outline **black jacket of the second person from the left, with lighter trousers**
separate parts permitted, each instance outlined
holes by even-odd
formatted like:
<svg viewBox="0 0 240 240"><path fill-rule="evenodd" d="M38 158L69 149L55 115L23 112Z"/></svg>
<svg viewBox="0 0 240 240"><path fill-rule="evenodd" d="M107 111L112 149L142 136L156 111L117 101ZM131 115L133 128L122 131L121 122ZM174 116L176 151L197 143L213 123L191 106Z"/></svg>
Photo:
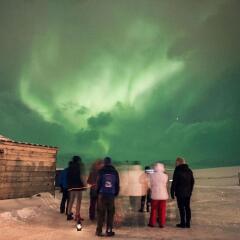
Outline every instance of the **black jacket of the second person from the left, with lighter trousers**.
<svg viewBox="0 0 240 240"><path fill-rule="evenodd" d="M84 171L83 164L73 163L67 172L68 189L83 190L84 181L82 172Z"/></svg>

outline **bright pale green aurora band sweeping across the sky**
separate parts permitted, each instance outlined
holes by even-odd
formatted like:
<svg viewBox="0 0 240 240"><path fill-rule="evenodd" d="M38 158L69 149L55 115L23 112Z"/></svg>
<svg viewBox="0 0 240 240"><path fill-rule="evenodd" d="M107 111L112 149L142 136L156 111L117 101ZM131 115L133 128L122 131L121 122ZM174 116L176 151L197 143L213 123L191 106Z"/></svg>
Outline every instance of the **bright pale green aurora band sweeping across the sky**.
<svg viewBox="0 0 240 240"><path fill-rule="evenodd" d="M150 34L150 40L152 37L154 34ZM164 53L147 66L138 54L127 63L119 61L114 54L106 54L96 56L87 70L59 74L55 72L61 63L58 41L56 37L49 39L33 47L30 63L20 80L21 98L45 120L63 124L72 131L86 128L90 116L112 111L117 103L141 110L149 97L147 93L183 68L182 62L169 60ZM120 73L116 71L119 68ZM46 95L36 94L38 90L46 91ZM86 112L77 114L82 108Z"/></svg>

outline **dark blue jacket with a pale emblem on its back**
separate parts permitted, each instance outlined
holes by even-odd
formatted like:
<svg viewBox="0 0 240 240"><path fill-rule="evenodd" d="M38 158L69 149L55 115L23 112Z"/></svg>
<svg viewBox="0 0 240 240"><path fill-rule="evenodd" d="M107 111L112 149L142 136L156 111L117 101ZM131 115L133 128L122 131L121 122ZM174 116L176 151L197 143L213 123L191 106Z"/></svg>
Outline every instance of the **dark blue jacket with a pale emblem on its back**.
<svg viewBox="0 0 240 240"><path fill-rule="evenodd" d="M112 176L114 185L109 187L105 186L106 182L105 177ZM119 175L117 170L112 165L105 165L98 173L97 178L97 193L104 195L104 196L110 196L114 197L119 194L120 186L119 186Z"/></svg>

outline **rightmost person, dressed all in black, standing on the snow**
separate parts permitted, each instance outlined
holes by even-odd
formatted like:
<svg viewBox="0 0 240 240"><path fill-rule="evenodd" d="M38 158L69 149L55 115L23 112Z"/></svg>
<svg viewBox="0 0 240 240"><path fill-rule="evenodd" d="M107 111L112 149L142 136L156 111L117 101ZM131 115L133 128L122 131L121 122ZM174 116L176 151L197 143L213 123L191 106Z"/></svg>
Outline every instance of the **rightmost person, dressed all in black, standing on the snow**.
<svg viewBox="0 0 240 240"><path fill-rule="evenodd" d="M188 167L183 158L176 159L176 168L173 173L173 182L171 186L171 197L177 197L177 203L181 222L177 224L180 228L190 228L191 208L190 200L194 186L194 177L192 170Z"/></svg>

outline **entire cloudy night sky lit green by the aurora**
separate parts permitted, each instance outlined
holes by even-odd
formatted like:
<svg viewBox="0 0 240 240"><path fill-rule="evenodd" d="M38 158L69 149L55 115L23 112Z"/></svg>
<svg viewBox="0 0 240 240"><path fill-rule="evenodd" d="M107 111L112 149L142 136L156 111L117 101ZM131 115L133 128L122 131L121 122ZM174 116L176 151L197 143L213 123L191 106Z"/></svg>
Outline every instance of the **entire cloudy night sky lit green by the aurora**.
<svg viewBox="0 0 240 240"><path fill-rule="evenodd" d="M0 0L0 134L85 161L240 164L240 1Z"/></svg>

